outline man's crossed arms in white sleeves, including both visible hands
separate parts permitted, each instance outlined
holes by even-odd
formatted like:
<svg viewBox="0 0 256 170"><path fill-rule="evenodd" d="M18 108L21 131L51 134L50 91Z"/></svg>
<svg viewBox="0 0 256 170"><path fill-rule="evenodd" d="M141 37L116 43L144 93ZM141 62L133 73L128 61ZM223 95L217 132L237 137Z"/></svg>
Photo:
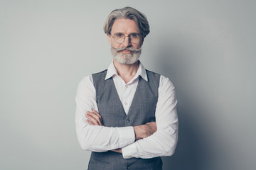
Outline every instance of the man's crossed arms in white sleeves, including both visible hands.
<svg viewBox="0 0 256 170"><path fill-rule="evenodd" d="M174 86L169 79L162 76L160 79L156 123L123 128L103 126L100 115L97 115L95 88L91 76L80 81L76 103L76 131L82 149L122 152L124 158L151 158L174 154L178 140L177 101Z"/></svg>

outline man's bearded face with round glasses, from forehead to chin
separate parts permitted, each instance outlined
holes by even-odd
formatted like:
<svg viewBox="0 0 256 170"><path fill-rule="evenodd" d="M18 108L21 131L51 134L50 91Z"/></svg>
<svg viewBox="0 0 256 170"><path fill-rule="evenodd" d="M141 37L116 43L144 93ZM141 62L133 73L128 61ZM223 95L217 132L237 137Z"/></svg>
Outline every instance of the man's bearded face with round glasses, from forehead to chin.
<svg viewBox="0 0 256 170"><path fill-rule="evenodd" d="M111 35L107 35L107 40L111 45L111 52L114 60L121 64L134 64L139 60L141 54L142 38L140 37L137 23L130 19L119 18L114 21ZM122 43L114 41L113 36L124 35L125 39ZM132 42L132 37L139 35L138 42ZM130 37L129 37L130 36Z"/></svg>

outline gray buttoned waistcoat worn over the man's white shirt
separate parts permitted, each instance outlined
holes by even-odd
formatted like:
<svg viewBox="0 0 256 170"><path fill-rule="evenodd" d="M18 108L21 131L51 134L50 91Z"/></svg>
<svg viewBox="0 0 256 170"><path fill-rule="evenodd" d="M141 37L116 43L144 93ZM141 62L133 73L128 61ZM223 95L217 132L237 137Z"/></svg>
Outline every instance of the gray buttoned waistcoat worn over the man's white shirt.
<svg viewBox="0 0 256 170"><path fill-rule="evenodd" d="M160 79L159 74L146 70L148 81L139 77L139 83L128 114L124 112L112 77L105 80L106 74L107 70L92 74L96 89L97 106L102 116L103 125L106 127L124 127L142 125L155 121ZM160 157L153 159L124 159L122 154L117 152L92 152L88 169L161 170L162 162Z"/></svg>

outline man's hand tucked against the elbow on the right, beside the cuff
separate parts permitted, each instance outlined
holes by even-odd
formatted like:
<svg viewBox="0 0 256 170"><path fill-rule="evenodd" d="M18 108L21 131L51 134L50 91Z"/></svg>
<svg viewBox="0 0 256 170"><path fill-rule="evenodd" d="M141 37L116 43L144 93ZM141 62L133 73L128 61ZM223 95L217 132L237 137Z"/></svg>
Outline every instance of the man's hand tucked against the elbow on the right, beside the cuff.
<svg viewBox="0 0 256 170"><path fill-rule="evenodd" d="M134 126L133 128L135 132L135 140L140 140L145 137L149 137L157 130L155 122L149 122L145 125Z"/></svg>

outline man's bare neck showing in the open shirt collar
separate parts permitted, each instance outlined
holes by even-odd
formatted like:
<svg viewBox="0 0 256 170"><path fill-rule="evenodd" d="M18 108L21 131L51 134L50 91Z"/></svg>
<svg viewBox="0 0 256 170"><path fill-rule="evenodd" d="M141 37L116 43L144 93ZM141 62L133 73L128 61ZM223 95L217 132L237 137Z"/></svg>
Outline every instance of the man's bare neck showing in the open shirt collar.
<svg viewBox="0 0 256 170"><path fill-rule="evenodd" d="M114 62L114 67L117 69L117 74L121 77L127 84L137 73L139 69L139 61L134 64L120 64L116 60Z"/></svg>

